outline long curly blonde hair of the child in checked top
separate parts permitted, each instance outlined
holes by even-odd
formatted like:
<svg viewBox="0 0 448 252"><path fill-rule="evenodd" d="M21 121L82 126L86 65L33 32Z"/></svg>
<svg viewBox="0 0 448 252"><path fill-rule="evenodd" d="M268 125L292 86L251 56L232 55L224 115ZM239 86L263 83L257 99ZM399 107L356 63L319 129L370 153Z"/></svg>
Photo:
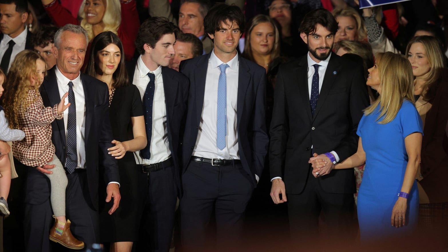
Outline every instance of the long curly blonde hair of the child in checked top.
<svg viewBox="0 0 448 252"><path fill-rule="evenodd" d="M24 50L14 58L5 81L4 87L4 115L9 122L9 128L20 128L18 115L37 100L37 96L31 103L26 102L28 90L38 90L39 86L31 86L30 77L35 83L39 82L36 75L36 60L43 60L42 56L30 50Z"/></svg>

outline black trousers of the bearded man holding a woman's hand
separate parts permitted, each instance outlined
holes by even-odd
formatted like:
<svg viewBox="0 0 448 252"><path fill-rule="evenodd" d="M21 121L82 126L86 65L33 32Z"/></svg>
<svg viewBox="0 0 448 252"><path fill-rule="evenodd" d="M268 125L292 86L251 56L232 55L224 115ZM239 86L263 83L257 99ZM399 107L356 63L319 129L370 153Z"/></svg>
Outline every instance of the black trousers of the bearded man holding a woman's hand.
<svg viewBox="0 0 448 252"><path fill-rule="evenodd" d="M293 240L315 242L319 237L319 226L333 232L327 238L336 236L354 238L353 193L338 194L323 191L320 178L314 178L310 168L305 189L300 194L287 194L289 227ZM344 183L344 181L341 181ZM319 225L323 213L324 223ZM310 239L310 240L309 240Z"/></svg>

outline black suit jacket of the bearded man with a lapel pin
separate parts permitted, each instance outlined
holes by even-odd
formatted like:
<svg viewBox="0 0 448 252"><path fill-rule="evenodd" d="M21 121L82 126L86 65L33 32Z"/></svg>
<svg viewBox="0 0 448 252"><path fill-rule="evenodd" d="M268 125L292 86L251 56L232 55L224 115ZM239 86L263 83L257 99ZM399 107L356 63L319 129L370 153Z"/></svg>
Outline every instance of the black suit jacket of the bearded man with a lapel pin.
<svg viewBox="0 0 448 252"><path fill-rule="evenodd" d="M286 193L303 191L312 151L334 150L340 161L358 149L356 130L369 106L364 69L332 53L314 116L311 114L306 56L280 66L271 122L271 178L282 177ZM353 169L333 170L319 179L329 193L354 193Z"/></svg>

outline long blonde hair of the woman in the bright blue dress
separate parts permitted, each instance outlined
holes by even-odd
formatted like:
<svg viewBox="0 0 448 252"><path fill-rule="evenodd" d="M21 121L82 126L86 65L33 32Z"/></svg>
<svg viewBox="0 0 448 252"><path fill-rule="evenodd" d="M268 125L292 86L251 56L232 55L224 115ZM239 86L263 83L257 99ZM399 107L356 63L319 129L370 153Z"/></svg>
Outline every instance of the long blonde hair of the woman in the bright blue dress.
<svg viewBox="0 0 448 252"><path fill-rule="evenodd" d="M412 67L405 57L393 52L380 52L375 55L379 74L381 94L379 98L364 110L365 115L373 114L377 109L379 124L394 120L403 104L403 99L414 104L414 76Z"/></svg>

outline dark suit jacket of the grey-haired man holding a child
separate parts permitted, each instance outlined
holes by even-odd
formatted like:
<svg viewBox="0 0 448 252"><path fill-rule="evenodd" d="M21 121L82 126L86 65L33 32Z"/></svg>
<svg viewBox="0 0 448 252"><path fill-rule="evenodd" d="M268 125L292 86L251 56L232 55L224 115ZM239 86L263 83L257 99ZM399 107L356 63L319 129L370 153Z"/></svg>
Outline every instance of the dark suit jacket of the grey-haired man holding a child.
<svg viewBox="0 0 448 252"><path fill-rule="evenodd" d="M39 88L45 107L60 102L56 80L56 66L48 71ZM81 74L82 87L86 103L84 147L86 149L86 171L90 198L95 209L98 209L99 171L103 171L106 184L120 182L118 164L108 154L107 149L114 146L111 141L112 128L109 120L109 92L107 85L89 75ZM67 158L64 119L52 122L52 142L56 147L56 156L62 164Z"/></svg>

